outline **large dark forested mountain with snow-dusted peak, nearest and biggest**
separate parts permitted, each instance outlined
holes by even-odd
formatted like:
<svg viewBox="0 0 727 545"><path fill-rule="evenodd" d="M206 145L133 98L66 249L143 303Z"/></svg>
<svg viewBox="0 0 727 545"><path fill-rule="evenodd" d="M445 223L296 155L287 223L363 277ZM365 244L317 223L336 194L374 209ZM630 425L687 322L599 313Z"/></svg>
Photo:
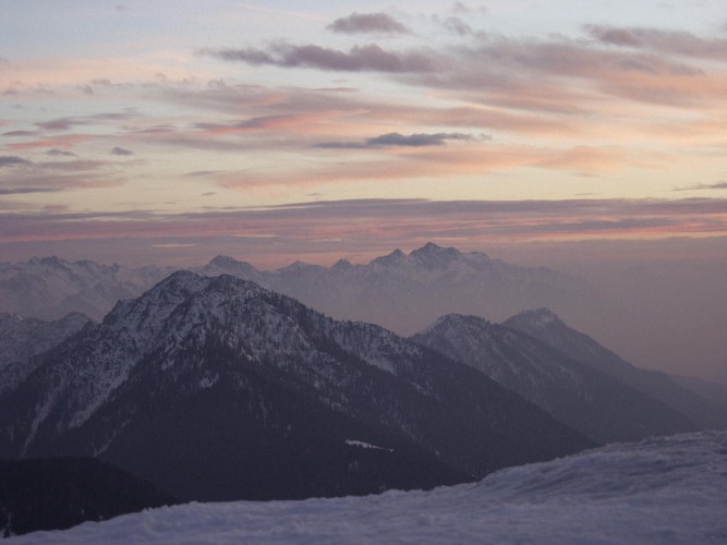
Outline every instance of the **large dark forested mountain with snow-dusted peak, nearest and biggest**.
<svg viewBox="0 0 727 545"><path fill-rule="evenodd" d="M180 499L432 487L593 443L471 367L180 271L0 398L0 456L97 456Z"/></svg>

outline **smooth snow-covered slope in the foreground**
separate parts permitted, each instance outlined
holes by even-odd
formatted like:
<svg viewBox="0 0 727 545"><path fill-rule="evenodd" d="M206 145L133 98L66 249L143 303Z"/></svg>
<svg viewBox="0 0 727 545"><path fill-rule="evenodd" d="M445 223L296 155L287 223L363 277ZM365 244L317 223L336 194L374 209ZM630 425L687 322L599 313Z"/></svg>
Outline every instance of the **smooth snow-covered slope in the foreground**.
<svg viewBox="0 0 727 545"><path fill-rule="evenodd" d="M9 543L727 543L727 432L607 447L432 492L189 504Z"/></svg>

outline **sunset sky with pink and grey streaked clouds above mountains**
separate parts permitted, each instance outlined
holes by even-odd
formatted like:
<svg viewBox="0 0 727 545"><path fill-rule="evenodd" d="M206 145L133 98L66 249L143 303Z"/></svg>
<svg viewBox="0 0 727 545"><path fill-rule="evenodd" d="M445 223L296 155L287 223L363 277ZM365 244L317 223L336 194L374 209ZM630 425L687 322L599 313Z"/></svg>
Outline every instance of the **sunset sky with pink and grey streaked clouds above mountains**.
<svg viewBox="0 0 727 545"><path fill-rule="evenodd" d="M662 303L668 269L699 314L727 291L725 97L723 0L0 0L0 261L433 241Z"/></svg>

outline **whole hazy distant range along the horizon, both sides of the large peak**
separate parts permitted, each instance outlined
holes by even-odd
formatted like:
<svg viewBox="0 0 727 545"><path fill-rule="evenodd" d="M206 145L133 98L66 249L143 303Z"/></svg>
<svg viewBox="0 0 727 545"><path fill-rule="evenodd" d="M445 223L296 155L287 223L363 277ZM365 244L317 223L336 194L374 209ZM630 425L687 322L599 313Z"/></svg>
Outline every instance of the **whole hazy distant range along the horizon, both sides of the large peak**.
<svg viewBox="0 0 727 545"><path fill-rule="evenodd" d="M408 255L397 250L365 265L341 259L327 268L296 262L260 271L218 256L192 270L252 280L335 318L378 324L399 335L414 334L448 313L501 320L525 308L568 313L603 303L582 279L433 243ZM0 264L0 312L44 319L81 312L101 319L117 301L138 296L172 271L57 257Z"/></svg>

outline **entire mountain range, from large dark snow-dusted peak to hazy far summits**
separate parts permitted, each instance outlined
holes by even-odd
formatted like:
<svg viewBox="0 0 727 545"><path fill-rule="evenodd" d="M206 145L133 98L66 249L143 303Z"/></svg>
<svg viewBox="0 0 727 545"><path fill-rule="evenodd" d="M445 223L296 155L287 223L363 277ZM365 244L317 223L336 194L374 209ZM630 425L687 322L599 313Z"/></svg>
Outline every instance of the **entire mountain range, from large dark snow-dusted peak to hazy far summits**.
<svg viewBox="0 0 727 545"><path fill-rule="evenodd" d="M543 302L597 296L435 244L276 271L230 257L195 271L0 265L0 308L47 316L0 314L0 458L100 458L181 500L281 499L431 488L725 427L688 379L629 364L548 308L519 312ZM93 319L57 316L81 308Z"/></svg>

